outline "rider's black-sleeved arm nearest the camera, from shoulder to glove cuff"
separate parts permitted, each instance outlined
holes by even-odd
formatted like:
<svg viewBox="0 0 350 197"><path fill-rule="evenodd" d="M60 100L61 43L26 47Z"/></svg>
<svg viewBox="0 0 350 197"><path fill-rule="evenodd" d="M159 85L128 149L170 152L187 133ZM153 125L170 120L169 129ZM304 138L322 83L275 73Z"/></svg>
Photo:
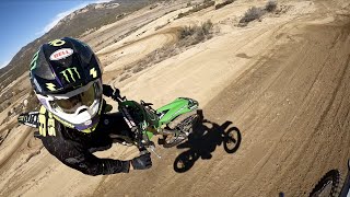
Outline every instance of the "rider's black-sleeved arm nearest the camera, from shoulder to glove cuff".
<svg viewBox="0 0 350 197"><path fill-rule="evenodd" d="M84 174L95 176L129 172L130 161L100 159L79 143L62 138L46 137L42 140L45 148L58 160Z"/></svg>

